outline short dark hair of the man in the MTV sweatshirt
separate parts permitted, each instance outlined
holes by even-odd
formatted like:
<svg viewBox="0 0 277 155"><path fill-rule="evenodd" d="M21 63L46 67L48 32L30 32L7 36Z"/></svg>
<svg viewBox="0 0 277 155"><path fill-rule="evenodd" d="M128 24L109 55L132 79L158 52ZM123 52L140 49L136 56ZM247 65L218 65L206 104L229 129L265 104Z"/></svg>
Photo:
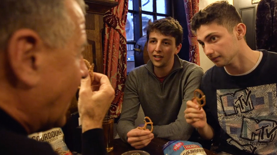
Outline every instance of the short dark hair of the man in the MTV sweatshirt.
<svg viewBox="0 0 277 155"><path fill-rule="evenodd" d="M192 17L191 30L196 32L201 25L212 23L222 25L232 33L233 28L242 23L242 19L234 6L227 1L218 1L200 10Z"/></svg>

